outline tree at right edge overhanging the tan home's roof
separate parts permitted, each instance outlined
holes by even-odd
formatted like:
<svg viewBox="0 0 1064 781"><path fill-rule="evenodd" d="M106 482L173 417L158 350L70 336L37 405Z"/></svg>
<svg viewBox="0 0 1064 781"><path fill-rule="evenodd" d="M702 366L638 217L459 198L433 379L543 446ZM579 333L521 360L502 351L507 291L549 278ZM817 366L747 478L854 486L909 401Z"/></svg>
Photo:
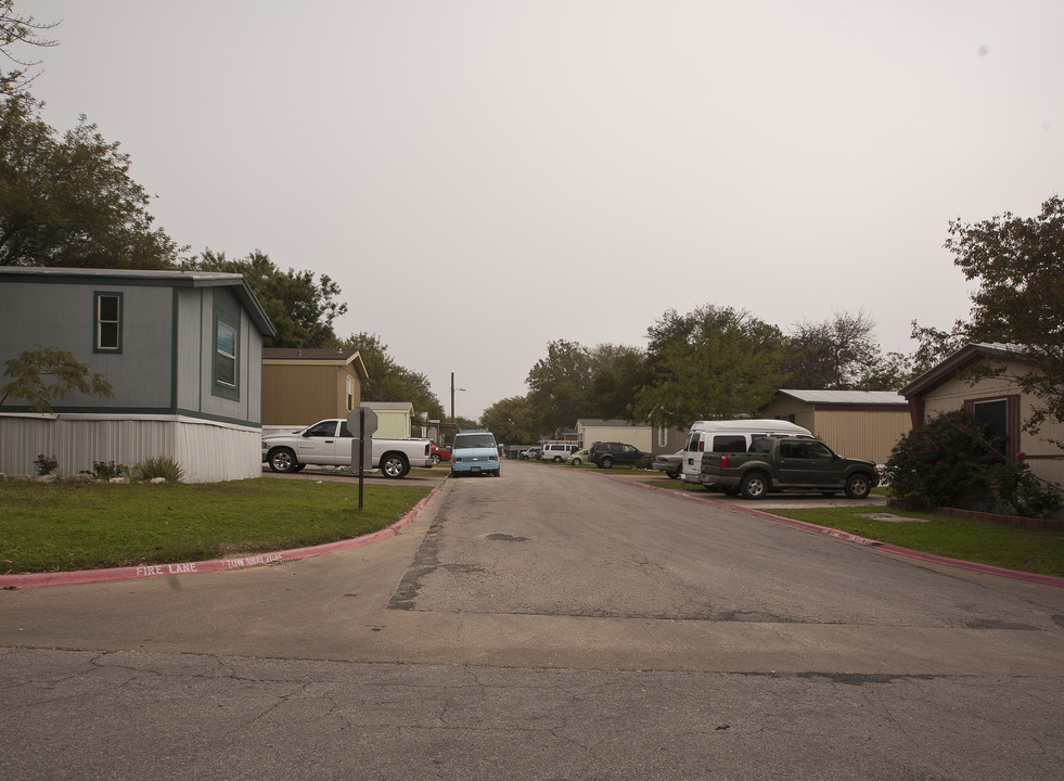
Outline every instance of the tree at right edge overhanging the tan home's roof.
<svg viewBox="0 0 1064 781"><path fill-rule="evenodd" d="M1025 421L1029 431L1047 419L1064 421L1064 201L1050 197L1034 218L1007 212L974 223L954 220L949 233L953 263L978 282L969 340L1014 345L1037 366L1009 374L1037 399Z"/></svg>

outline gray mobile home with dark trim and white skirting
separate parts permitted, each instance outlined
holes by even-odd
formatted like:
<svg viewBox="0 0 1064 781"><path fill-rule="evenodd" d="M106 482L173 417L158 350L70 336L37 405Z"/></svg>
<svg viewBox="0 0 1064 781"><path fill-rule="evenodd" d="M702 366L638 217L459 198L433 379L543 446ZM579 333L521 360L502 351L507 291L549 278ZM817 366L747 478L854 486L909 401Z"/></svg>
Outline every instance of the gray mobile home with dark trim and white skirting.
<svg viewBox="0 0 1064 781"><path fill-rule="evenodd" d="M180 461L189 482L260 474L262 340L273 333L240 274L0 268L0 364L59 347L115 394L63 399L51 414L8 399L0 472L31 473L44 453L67 475L153 456Z"/></svg>

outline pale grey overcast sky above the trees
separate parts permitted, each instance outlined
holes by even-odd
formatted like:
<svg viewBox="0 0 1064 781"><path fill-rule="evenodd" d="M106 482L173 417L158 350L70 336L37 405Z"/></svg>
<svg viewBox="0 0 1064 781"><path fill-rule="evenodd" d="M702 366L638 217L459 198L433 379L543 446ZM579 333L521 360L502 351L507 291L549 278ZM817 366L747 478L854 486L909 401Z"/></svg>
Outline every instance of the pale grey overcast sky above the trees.
<svg viewBox="0 0 1064 781"><path fill-rule="evenodd" d="M1061 0L16 0L192 252L325 273L459 415L675 308L948 329L1064 182Z"/></svg>

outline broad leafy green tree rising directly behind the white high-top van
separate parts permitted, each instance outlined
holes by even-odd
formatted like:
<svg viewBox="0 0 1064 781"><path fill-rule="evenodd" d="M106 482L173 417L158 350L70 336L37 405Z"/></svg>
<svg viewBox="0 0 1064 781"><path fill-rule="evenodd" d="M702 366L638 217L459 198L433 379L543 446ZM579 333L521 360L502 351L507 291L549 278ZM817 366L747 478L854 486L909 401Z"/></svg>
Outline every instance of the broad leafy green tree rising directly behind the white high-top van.
<svg viewBox="0 0 1064 781"><path fill-rule="evenodd" d="M639 394L639 420L682 427L698 419L753 414L779 387L783 333L744 310L670 309L648 335L652 384Z"/></svg>

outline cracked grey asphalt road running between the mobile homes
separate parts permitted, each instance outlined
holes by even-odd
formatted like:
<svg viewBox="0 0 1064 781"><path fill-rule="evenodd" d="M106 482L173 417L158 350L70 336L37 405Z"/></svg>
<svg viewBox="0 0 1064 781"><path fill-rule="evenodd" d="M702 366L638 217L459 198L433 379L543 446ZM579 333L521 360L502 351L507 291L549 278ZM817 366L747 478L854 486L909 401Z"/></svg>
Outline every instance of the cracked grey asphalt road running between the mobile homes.
<svg viewBox="0 0 1064 781"><path fill-rule="evenodd" d="M1064 589L508 461L364 548L2 592L0 687L12 779L1055 780Z"/></svg>

